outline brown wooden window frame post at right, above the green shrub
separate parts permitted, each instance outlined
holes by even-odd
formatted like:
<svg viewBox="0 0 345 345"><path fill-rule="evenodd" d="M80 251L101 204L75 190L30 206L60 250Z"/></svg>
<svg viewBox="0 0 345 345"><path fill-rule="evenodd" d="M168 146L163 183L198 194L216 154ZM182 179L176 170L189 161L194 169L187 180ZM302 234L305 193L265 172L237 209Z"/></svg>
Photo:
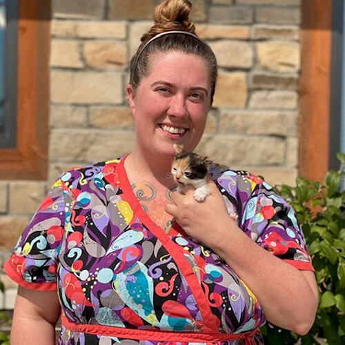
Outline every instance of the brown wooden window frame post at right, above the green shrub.
<svg viewBox="0 0 345 345"><path fill-rule="evenodd" d="M320 182L329 167L332 3L301 3L299 175Z"/></svg>

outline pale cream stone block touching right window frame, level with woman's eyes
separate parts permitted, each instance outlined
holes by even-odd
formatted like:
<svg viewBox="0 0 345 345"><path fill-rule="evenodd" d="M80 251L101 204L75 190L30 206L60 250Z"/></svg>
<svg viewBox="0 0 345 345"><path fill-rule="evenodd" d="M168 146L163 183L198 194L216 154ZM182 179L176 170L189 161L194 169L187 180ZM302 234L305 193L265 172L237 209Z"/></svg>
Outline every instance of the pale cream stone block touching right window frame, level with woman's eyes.
<svg viewBox="0 0 345 345"><path fill-rule="evenodd" d="M249 108L259 109L296 109L295 91L254 91L250 96Z"/></svg>

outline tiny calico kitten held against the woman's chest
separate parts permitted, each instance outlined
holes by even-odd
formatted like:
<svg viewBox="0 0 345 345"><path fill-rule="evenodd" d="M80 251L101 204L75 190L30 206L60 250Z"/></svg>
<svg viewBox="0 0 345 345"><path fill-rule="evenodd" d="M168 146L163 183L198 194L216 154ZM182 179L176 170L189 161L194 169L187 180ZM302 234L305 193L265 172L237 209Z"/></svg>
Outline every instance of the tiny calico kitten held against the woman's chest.
<svg viewBox="0 0 345 345"><path fill-rule="evenodd" d="M201 202L210 194L207 184L208 168L212 163L207 157L202 157L195 152L187 152L177 144L172 162L171 173L177 184L179 193L186 193L190 186L195 188L194 199Z"/></svg>

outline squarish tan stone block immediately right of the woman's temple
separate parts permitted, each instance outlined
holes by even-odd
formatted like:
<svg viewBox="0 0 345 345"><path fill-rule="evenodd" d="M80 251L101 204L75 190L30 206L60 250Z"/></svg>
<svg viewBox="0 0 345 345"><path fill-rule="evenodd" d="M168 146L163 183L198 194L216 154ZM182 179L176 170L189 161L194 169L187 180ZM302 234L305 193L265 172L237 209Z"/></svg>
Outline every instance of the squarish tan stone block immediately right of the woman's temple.
<svg viewBox="0 0 345 345"><path fill-rule="evenodd" d="M219 72L213 106L244 108L248 97L246 73Z"/></svg>

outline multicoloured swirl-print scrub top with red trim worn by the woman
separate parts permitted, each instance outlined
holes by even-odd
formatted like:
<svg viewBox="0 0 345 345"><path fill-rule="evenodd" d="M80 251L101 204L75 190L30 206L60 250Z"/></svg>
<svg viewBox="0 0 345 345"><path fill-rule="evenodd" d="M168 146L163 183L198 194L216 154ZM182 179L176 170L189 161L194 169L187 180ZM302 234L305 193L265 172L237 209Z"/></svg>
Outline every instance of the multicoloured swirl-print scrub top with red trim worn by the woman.
<svg viewBox="0 0 345 345"><path fill-rule="evenodd" d="M59 344L263 344L257 298L219 255L176 224L168 233L132 193L124 159L75 168L52 186L6 262L57 290ZM214 165L238 226L273 255L313 270L295 213L262 179Z"/></svg>

